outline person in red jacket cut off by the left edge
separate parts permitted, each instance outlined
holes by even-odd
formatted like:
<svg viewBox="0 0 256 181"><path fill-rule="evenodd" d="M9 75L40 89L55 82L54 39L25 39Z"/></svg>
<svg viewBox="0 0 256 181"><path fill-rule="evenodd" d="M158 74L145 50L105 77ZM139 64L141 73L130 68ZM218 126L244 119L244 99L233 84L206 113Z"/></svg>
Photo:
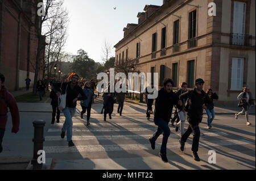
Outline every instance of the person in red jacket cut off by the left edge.
<svg viewBox="0 0 256 181"><path fill-rule="evenodd" d="M9 107L11 112L11 117L13 119L13 129L12 133L18 133L19 131L19 110L16 104L16 100L13 95L4 86L5 76L0 73L0 153L3 151L2 141L3 135L5 134L5 127L7 123L7 112Z"/></svg>

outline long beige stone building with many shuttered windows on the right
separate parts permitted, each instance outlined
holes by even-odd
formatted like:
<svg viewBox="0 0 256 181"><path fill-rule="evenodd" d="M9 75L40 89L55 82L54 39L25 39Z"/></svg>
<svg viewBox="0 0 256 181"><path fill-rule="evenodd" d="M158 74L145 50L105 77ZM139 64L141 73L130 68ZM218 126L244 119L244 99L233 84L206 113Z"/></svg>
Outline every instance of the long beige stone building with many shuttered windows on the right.
<svg viewBox="0 0 256 181"><path fill-rule="evenodd" d="M133 61L141 72L158 73L160 87L172 78L174 89L180 82L193 89L203 78L224 106L237 103L245 85L255 95L255 1L164 0L137 17L114 46L117 69Z"/></svg>

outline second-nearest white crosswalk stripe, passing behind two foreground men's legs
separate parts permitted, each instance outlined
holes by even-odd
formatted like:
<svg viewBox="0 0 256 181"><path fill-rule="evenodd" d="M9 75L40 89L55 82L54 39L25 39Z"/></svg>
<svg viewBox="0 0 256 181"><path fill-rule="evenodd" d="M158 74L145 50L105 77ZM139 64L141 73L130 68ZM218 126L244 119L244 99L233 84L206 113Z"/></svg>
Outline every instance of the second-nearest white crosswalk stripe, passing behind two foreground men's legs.
<svg viewBox="0 0 256 181"><path fill-rule="evenodd" d="M204 133L204 136L226 136L228 134L223 132L216 132L216 133ZM96 136L72 136L73 141L89 141L89 140L139 140L139 139L145 139L148 137L152 137L152 134L129 134L129 135L96 135ZM162 138L163 136L160 135L159 138ZM169 137L172 138L180 138L179 134L170 134ZM193 137L191 134L190 137ZM65 139L60 138L60 136L46 136L46 141L65 141Z"/></svg>

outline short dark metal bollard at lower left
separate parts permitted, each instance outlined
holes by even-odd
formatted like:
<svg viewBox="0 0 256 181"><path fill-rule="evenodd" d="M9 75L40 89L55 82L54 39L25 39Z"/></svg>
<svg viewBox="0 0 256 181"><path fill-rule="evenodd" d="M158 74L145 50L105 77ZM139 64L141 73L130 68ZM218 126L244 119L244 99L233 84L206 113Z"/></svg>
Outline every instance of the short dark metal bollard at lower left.
<svg viewBox="0 0 256 181"><path fill-rule="evenodd" d="M38 163L38 150L43 150L43 142L44 142L44 125L46 124L46 121L44 120L35 120L33 122L34 129L34 155L33 159L31 161L31 164L33 165L33 170L39 170L42 169L43 163Z"/></svg>

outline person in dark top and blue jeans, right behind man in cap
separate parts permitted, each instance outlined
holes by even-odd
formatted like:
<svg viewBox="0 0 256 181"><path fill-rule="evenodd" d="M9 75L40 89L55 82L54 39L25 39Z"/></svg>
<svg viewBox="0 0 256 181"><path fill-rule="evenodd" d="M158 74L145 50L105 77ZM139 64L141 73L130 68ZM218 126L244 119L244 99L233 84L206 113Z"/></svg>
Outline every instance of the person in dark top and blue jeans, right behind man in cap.
<svg viewBox="0 0 256 181"><path fill-rule="evenodd" d="M208 116L207 129L210 129L210 128L212 128L212 121L215 117L213 99L218 99L218 95L215 92L213 92L212 89L207 89L206 93L210 98L208 104L205 105L207 107L207 110L205 110L205 111L207 112L207 116Z"/></svg>

